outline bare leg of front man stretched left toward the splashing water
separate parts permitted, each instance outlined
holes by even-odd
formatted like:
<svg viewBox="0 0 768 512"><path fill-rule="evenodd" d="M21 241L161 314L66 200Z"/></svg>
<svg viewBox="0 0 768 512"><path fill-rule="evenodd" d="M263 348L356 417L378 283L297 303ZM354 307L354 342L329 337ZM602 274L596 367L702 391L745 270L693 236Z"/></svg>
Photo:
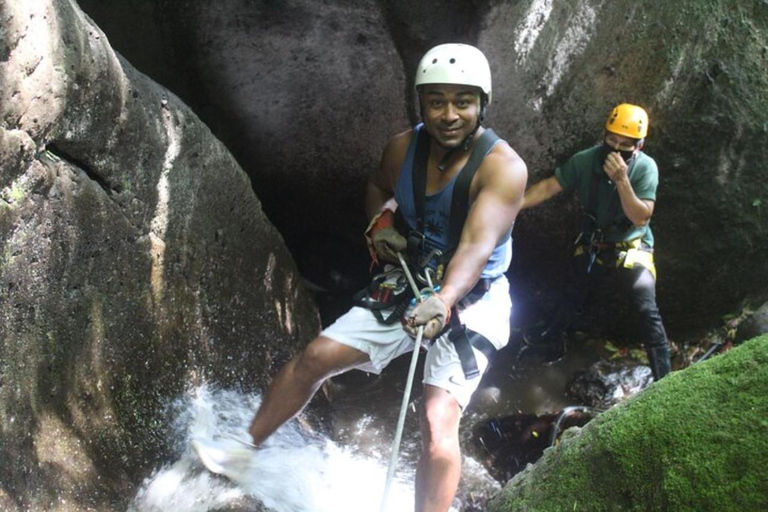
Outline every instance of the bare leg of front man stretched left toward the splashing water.
<svg viewBox="0 0 768 512"><path fill-rule="evenodd" d="M256 446L296 416L325 379L368 361L368 354L330 338L315 338L275 376L249 432Z"/></svg>

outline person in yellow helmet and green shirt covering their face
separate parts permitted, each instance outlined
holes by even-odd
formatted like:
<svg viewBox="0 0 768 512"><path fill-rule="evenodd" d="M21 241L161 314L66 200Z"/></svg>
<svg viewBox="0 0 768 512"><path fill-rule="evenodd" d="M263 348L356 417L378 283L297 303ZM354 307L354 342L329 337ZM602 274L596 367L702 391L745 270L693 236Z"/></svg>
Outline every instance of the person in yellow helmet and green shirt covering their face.
<svg viewBox="0 0 768 512"><path fill-rule="evenodd" d="M596 276L608 275L631 299L655 380L670 371L669 342L656 305L656 268L650 220L659 171L643 153L645 110L627 103L611 111L603 144L573 155L555 175L525 193L523 209L575 191L584 211L574 253L575 282L538 342L552 340L574 320Z"/></svg>

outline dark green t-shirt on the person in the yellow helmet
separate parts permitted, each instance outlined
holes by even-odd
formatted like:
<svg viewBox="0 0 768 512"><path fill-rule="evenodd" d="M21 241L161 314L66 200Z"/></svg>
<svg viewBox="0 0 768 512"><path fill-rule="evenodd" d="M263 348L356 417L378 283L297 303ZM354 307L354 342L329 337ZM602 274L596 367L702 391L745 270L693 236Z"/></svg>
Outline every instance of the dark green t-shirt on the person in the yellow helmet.
<svg viewBox="0 0 768 512"><path fill-rule="evenodd" d="M562 167L555 169L555 178L563 191L576 191L582 207L589 209L592 190L592 176L599 178L597 200L593 203L597 226L605 233L606 242L628 242L642 238L643 242L653 247L653 233L650 224L642 227L632 225L621 209L616 185L603 171L601 146L595 146L573 155ZM639 199L656 201L656 188L659 186L659 169L650 156L640 151L629 173L629 182ZM615 213L611 218L611 213Z"/></svg>

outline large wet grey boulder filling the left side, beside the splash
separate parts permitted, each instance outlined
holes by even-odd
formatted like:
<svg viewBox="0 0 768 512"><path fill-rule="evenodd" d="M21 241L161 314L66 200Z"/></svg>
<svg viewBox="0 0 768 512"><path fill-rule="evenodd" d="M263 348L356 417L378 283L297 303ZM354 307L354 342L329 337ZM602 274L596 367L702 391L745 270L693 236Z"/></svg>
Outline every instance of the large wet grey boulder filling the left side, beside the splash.
<svg viewBox="0 0 768 512"><path fill-rule="evenodd" d="M255 388L317 333L224 146L71 2L0 7L0 503L116 510L168 399Z"/></svg>

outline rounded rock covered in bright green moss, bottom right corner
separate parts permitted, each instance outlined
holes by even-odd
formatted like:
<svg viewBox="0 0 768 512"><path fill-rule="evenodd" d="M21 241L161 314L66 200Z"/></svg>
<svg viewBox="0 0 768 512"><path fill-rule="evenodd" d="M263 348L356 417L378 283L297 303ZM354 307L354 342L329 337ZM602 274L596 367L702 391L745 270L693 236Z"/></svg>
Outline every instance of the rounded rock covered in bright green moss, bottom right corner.
<svg viewBox="0 0 768 512"><path fill-rule="evenodd" d="M488 510L768 510L767 388L763 336L568 431Z"/></svg>

